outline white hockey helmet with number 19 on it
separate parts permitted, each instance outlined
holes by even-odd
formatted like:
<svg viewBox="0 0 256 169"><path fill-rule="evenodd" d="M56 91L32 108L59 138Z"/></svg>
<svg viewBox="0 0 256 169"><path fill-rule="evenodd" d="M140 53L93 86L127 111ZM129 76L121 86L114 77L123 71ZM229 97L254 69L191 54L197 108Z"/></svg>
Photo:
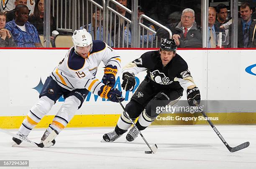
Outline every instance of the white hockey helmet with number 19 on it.
<svg viewBox="0 0 256 169"><path fill-rule="evenodd" d="M92 36L86 29L75 30L72 36L74 48L77 46L84 47L91 45L92 50Z"/></svg>

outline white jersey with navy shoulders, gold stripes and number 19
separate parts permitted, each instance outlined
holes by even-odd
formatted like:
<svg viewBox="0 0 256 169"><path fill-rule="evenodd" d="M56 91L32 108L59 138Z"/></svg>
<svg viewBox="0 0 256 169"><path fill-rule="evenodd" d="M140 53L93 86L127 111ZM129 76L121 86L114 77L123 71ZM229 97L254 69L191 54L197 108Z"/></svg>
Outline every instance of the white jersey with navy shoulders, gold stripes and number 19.
<svg viewBox="0 0 256 169"><path fill-rule="evenodd" d="M104 86L104 83L95 77L101 61L105 66L116 66L117 71L120 69L121 60L116 51L101 40L93 40L92 51L86 59L79 56L72 47L50 76L59 86L69 91L86 88L98 95L100 87Z"/></svg>

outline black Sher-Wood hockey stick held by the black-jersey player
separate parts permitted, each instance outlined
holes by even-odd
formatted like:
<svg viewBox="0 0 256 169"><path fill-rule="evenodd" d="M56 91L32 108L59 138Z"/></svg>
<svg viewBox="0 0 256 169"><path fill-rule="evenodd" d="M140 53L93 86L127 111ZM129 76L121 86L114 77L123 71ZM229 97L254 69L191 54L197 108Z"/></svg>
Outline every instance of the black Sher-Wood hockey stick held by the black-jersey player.
<svg viewBox="0 0 256 169"><path fill-rule="evenodd" d="M199 107L197 101L194 100L193 103L194 103L195 106ZM225 139L223 138L223 136L221 136L221 134L220 134L220 132L217 130L217 128L212 124L212 121L208 120L208 117L207 117L207 115L205 114L205 112L204 112L203 110L201 111L201 114L202 114L204 117L207 118L207 121L208 121L208 123L210 124L210 126L212 127L212 129L213 129L213 130L215 131L215 133L219 136L219 138L221 139L221 141L223 142L223 144L228 148L228 150L229 150L231 153L233 153L233 152L235 152L235 151L239 151L239 150L241 150L241 149L245 149L246 147L248 147L248 146L250 145L250 142L247 141L247 142L245 142L245 143L243 143L243 144L240 144L240 145L238 145L238 146L236 146L236 147L230 147L230 146L228 145L228 143L225 141Z"/></svg>

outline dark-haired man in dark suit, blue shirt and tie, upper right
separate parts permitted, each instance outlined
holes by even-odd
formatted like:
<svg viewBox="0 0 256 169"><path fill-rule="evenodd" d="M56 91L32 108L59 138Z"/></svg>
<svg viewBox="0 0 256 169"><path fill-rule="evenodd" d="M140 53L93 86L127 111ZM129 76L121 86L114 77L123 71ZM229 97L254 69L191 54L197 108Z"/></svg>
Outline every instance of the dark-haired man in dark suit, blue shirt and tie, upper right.
<svg viewBox="0 0 256 169"><path fill-rule="evenodd" d="M248 48L248 41L249 41L249 30L252 30L250 28L252 20L251 20L251 14L252 9L251 5L249 3L243 3L240 6L240 14L241 18L238 19L238 48ZM232 25L228 28L229 32L229 40L231 40L232 35ZM229 47L231 47L231 42L229 43Z"/></svg>

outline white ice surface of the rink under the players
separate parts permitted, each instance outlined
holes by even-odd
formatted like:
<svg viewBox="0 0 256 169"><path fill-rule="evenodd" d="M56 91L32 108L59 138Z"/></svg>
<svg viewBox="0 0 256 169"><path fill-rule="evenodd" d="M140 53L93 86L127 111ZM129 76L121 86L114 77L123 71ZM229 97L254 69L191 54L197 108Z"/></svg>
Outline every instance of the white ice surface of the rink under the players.
<svg viewBox="0 0 256 169"><path fill-rule="evenodd" d="M11 137L0 133L0 160L29 160L34 169L256 169L256 126L216 128L230 146L246 141L250 146L230 153L209 125L151 126L142 133L158 151L145 154L149 149L141 136L131 143L125 142L125 134L116 142L101 143L102 135L114 127L67 128L50 148L24 142L12 147ZM44 131L33 130L28 138L40 142Z"/></svg>

